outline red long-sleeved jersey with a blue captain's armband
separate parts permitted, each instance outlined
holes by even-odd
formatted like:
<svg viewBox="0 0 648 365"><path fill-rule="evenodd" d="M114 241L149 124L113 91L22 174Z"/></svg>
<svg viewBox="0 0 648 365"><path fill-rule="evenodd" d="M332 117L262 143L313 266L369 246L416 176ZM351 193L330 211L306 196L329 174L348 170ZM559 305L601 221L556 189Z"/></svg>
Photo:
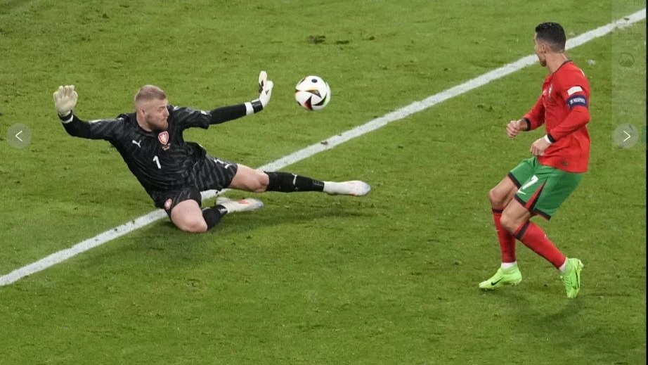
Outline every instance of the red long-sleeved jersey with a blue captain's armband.
<svg viewBox="0 0 648 365"><path fill-rule="evenodd" d="M590 134L585 124L590 121L590 83L571 60L547 75L543 94L536 105L524 115L529 130L545 124L547 138L552 141L541 165L566 172L586 172L590 160Z"/></svg>

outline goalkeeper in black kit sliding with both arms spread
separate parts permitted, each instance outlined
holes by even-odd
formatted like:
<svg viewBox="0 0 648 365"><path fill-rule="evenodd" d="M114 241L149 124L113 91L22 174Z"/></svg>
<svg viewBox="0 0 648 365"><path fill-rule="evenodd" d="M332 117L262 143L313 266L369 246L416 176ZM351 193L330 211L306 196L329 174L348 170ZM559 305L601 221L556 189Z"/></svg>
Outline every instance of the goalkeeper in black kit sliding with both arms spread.
<svg viewBox="0 0 648 365"><path fill-rule="evenodd" d="M188 232L205 232L223 215L263 207L260 200L218 198L214 207L201 209L201 191L233 188L264 191L320 191L330 195L364 196L370 186L363 181L318 181L287 172L264 172L208 155L205 149L183 139L190 127L209 128L258 113L266 108L273 83L266 72L259 75L259 98L246 103L204 111L169 105L159 87L145 85L135 96L135 112L115 119L85 122L72 113L77 104L74 86L58 87L54 105L70 136L103 139L122 155L155 206L169 214L171 222Z"/></svg>

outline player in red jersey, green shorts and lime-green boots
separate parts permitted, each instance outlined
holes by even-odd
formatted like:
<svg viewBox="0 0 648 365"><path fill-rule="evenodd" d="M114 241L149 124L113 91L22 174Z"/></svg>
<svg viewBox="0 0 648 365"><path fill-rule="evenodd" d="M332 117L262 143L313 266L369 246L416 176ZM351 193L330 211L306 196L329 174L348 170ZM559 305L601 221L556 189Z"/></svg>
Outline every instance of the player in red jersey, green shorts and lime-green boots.
<svg viewBox="0 0 648 365"><path fill-rule="evenodd" d="M581 289L583 263L565 257L529 219L535 215L550 219L588 169L590 136L585 125L590 121L590 85L583 71L565 54L561 25L538 25L533 41L540 65L549 75L536 105L520 120L510 122L506 133L514 138L543 124L546 133L531 144L533 157L523 160L488 193L502 265L494 276L479 283L479 288L493 290L520 283L522 275L515 259L517 238L559 270L567 297L574 298Z"/></svg>

